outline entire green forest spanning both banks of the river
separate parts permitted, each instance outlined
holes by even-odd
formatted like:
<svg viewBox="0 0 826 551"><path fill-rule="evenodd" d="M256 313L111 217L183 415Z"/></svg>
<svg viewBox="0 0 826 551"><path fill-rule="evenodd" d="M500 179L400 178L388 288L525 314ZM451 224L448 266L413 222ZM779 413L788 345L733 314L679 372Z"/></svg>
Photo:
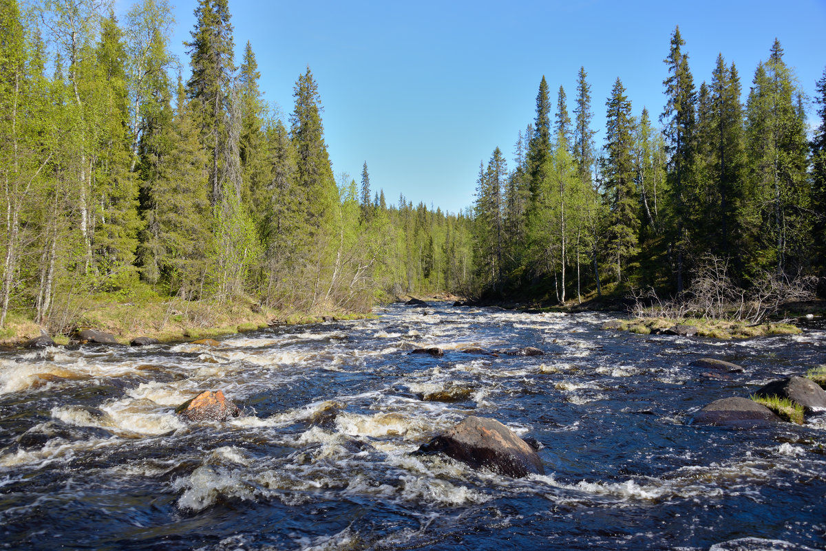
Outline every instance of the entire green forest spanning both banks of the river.
<svg viewBox="0 0 826 551"><path fill-rule="evenodd" d="M661 112L635 113L621 78L592 98L585 68L569 111L543 77L513 168L495 148L472 209L449 214L391 204L366 161L336 176L311 69L282 119L252 45L235 59L227 0L195 15L183 71L166 0L121 21L94 0L0 0L0 328L64 332L89 297L364 312L440 290L562 303L677 295L710 270L740 290L826 275L826 73L805 97L778 41L750 83L720 54L697 86L676 28Z"/></svg>

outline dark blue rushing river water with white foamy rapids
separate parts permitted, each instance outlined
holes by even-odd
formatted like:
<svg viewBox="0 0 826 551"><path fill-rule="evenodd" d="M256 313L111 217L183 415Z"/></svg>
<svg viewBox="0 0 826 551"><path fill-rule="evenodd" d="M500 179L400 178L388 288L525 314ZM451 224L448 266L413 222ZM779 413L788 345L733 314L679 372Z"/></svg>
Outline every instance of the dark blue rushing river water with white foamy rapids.
<svg viewBox="0 0 826 551"><path fill-rule="evenodd" d="M599 313L381 312L218 347L3 352L0 548L826 547L826 416L688 423L826 362L823 330L712 341L603 331ZM463 351L524 346L545 355ZM688 367L708 356L745 370ZM206 389L244 417L175 416ZM423 399L442 391L456 401ZM539 440L546 474L411 455L471 414Z"/></svg>

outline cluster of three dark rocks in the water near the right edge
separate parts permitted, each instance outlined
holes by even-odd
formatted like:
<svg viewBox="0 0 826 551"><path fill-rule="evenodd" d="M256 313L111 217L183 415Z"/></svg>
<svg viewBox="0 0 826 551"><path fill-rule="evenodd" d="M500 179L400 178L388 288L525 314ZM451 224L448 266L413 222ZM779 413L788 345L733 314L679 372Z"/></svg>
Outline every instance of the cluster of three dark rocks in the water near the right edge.
<svg viewBox="0 0 826 551"><path fill-rule="evenodd" d="M729 373L743 371L739 365L723 360L702 358L692 362L692 366L725 370ZM826 411L826 391L811 379L805 377L786 377L764 385L755 393L754 398L786 398L791 403L803 407L806 415ZM691 418L694 425L728 426L731 428L757 428L785 420L769 407L750 398L731 397L714 400Z"/></svg>

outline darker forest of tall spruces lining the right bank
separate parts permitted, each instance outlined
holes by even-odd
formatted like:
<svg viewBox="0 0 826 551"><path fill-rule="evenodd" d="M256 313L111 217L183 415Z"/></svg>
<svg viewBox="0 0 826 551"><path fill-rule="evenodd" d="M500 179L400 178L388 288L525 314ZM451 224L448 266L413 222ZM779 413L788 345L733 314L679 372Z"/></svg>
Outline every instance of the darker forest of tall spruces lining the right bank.
<svg viewBox="0 0 826 551"><path fill-rule="evenodd" d="M741 289L766 278L826 275L826 72L819 125L807 137L807 98L778 41L743 103L738 69L717 58L695 86L679 27L672 34L660 126L633 115L616 79L597 148L581 68L573 119L545 78L536 118L508 171L494 149L477 178L474 288L563 302L652 288L679 295L719 261ZM716 269L716 268L715 268ZM821 289L823 291L823 289Z"/></svg>

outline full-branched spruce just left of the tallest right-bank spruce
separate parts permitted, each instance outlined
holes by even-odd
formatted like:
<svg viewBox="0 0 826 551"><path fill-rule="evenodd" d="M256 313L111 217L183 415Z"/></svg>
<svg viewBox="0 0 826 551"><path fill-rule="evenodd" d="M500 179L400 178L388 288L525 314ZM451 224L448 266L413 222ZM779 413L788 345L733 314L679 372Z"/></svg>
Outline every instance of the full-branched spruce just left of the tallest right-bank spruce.
<svg viewBox="0 0 826 551"><path fill-rule="evenodd" d="M625 263L638 252L639 228L632 153L634 117L631 116L631 102L625 96L625 88L619 78L614 82L605 106L605 151L608 153L605 195L610 209L606 238L619 283Z"/></svg>

